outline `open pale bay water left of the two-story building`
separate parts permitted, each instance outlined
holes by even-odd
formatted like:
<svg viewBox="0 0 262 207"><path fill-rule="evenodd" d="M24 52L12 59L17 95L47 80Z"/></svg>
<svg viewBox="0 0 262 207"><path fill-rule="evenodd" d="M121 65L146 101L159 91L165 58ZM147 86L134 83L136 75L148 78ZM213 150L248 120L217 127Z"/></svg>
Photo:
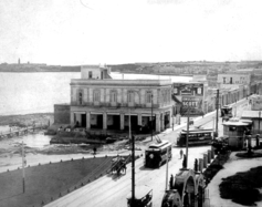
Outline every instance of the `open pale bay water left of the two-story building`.
<svg viewBox="0 0 262 207"><path fill-rule="evenodd" d="M71 79L67 73L0 73L0 115L53 112L53 105L70 103Z"/></svg>

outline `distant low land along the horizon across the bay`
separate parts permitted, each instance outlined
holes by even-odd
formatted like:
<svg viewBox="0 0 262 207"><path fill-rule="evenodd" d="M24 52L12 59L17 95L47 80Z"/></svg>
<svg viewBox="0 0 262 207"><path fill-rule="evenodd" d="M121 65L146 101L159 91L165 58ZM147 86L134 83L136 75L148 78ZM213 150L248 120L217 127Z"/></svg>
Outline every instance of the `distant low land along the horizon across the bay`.
<svg viewBox="0 0 262 207"><path fill-rule="evenodd" d="M239 69L254 69L256 72L262 70L262 61L241 61L241 62L209 62L209 61L188 61L188 62L156 62L156 63L126 63L108 65L113 72L125 73L155 73L155 74L209 74L216 75ZM80 65L46 65L46 64L0 64L0 72L80 72Z"/></svg>

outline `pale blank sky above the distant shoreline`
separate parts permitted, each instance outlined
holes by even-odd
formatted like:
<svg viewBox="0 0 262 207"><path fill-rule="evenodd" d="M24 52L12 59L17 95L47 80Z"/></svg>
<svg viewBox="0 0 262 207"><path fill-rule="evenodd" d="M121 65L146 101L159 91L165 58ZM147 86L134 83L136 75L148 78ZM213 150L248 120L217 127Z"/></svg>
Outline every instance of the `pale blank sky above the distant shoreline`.
<svg viewBox="0 0 262 207"><path fill-rule="evenodd" d="M262 60L261 0L1 0L0 63Z"/></svg>

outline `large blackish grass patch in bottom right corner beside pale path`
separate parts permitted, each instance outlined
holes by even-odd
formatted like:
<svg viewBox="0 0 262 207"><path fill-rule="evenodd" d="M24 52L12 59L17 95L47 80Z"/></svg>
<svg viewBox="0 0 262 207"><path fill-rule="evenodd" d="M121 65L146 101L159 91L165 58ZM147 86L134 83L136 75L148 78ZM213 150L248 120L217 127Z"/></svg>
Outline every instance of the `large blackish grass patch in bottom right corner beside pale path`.
<svg viewBox="0 0 262 207"><path fill-rule="evenodd" d="M222 198L232 199L232 201L245 206L254 206L255 201L262 200L262 196L256 189L261 187L262 166L223 178L219 185Z"/></svg>

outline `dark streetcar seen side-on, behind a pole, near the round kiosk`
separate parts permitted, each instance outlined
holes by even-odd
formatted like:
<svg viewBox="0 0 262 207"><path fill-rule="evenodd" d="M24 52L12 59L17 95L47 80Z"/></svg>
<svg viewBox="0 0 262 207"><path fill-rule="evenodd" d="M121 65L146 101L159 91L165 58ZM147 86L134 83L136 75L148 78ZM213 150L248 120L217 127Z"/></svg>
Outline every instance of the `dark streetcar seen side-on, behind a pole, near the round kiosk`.
<svg viewBox="0 0 262 207"><path fill-rule="evenodd" d="M182 130L177 138L177 146L187 145L188 134L188 146L192 145L209 145L213 139L213 130L196 128L196 130Z"/></svg>

